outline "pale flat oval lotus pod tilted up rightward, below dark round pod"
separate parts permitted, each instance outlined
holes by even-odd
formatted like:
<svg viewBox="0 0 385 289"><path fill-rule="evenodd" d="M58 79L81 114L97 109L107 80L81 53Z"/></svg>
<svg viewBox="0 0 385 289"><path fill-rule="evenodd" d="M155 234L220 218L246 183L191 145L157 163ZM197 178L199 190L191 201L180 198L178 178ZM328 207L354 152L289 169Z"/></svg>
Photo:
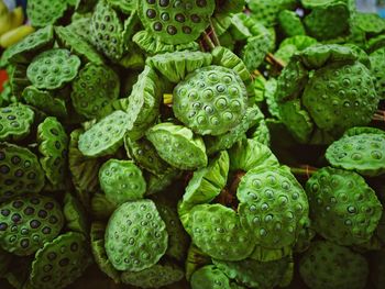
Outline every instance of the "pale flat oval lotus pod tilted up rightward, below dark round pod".
<svg viewBox="0 0 385 289"><path fill-rule="evenodd" d="M88 157L112 155L123 144L130 127L130 115L117 110L79 136L79 151Z"/></svg>

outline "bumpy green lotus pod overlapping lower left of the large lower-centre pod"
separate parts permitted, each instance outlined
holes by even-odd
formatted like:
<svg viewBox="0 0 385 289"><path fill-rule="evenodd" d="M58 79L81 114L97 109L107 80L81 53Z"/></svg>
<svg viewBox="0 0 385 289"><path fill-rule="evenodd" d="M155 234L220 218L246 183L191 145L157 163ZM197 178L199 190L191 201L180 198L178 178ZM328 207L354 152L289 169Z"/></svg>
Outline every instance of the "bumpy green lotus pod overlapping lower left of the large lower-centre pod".
<svg viewBox="0 0 385 289"><path fill-rule="evenodd" d="M235 211L222 204L198 204L191 213L191 240L213 258L241 260L254 249L255 241Z"/></svg>

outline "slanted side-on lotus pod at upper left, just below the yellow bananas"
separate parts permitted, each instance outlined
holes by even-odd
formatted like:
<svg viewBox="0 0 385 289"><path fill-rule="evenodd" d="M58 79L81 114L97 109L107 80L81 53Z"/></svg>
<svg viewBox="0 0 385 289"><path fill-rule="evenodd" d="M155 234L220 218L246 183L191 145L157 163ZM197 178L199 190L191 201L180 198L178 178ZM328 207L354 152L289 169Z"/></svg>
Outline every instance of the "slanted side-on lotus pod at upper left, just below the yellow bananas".
<svg viewBox="0 0 385 289"><path fill-rule="evenodd" d="M50 47L54 42L52 25L35 31L20 42L10 46L2 55L4 63L29 63L30 56L38 49Z"/></svg>

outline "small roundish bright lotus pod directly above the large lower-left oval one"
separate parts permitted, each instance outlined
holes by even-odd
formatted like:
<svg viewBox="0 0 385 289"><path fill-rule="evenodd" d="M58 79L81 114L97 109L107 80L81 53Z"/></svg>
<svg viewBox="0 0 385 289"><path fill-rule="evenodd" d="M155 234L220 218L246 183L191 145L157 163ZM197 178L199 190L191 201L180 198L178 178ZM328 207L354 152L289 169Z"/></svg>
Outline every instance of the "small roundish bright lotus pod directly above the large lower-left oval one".
<svg viewBox="0 0 385 289"><path fill-rule="evenodd" d="M140 200L146 191L142 170L131 160L110 159L99 170L100 187L116 204Z"/></svg>

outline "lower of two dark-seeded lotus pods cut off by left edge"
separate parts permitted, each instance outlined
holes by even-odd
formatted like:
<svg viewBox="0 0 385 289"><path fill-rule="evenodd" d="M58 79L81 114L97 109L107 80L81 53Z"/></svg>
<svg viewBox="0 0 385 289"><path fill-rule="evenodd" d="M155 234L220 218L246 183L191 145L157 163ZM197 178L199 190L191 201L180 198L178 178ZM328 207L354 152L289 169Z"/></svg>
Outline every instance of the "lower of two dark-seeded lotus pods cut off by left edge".
<svg viewBox="0 0 385 289"><path fill-rule="evenodd" d="M62 208L51 197L15 197L2 203L0 212L0 245L18 256L35 253L64 224Z"/></svg>

